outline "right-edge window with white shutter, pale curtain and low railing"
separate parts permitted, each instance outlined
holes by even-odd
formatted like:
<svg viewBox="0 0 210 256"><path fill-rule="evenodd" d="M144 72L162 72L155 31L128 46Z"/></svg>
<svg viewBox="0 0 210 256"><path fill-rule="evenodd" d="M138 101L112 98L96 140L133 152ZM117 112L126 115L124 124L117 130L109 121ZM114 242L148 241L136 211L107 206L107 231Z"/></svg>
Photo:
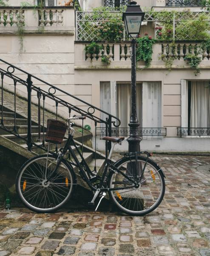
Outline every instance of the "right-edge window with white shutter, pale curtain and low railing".
<svg viewBox="0 0 210 256"><path fill-rule="evenodd" d="M209 81L182 80L182 128L187 135L210 135Z"/></svg>

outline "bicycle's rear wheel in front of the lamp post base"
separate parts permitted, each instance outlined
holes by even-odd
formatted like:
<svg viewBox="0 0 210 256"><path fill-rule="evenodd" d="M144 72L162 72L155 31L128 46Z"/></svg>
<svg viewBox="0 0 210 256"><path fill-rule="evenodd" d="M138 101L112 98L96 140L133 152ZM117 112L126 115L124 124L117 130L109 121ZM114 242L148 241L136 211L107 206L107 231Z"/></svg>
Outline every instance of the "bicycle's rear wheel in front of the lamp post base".
<svg viewBox="0 0 210 256"><path fill-rule="evenodd" d="M134 183L126 179L120 172L110 172L108 187L110 198L117 207L130 215L143 216L152 212L161 203L165 194L165 180L162 170L156 163L148 159L144 176L138 181L142 169L145 166L145 157L124 157L115 167L131 180L139 183L138 187L132 187ZM130 188L129 188L130 187Z"/></svg>

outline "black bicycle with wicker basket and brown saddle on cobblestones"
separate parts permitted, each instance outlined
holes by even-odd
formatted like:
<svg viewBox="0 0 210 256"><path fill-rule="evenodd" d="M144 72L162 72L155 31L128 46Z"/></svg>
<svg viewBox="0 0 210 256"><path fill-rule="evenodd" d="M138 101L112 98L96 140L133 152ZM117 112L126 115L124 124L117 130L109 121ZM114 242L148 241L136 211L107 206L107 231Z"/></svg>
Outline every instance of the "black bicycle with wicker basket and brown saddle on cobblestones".
<svg viewBox="0 0 210 256"><path fill-rule="evenodd" d="M114 204L129 215L142 216L152 212L165 194L165 175L162 169L149 158L151 154L147 151L122 154L123 157L113 163L111 155L114 146L117 143L121 145L125 138L104 137L103 140L112 142L111 151L105 160L102 175L92 172L73 139L74 123L71 120L85 118L70 117L66 124L48 119L48 153L29 159L17 174L16 189L23 203L35 212L54 212L62 207L77 186L73 169L76 166L79 175L94 194L88 204L94 205L96 198L100 197L95 211L108 192ZM66 130L68 140L65 146L60 148L58 154L50 154L50 143L61 144ZM65 159L66 154L70 154L70 160Z"/></svg>

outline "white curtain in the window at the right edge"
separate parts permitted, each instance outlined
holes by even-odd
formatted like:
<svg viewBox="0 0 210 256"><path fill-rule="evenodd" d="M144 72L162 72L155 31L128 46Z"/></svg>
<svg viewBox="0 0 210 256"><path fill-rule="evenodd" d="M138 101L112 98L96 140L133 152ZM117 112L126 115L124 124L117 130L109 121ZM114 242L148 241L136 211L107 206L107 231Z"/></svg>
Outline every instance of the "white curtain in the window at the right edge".
<svg viewBox="0 0 210 256"><path fill-rule="evenodd" d="M192 81L190 127L210 127L210 87L207 81Z"/></svg>

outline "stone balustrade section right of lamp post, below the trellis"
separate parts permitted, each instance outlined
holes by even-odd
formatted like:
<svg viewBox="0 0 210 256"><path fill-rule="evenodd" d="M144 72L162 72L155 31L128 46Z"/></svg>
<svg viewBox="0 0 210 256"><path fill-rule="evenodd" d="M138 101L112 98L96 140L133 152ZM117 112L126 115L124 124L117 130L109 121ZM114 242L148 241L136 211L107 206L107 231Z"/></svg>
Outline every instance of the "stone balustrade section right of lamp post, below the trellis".
<svg viewBox="0 0 210 256"><path fill-rule="evenodd" d="M202 60L210 59L210 52L199 43L162 44L162 59L184 60L189 53L196 53Z"/></svg>

